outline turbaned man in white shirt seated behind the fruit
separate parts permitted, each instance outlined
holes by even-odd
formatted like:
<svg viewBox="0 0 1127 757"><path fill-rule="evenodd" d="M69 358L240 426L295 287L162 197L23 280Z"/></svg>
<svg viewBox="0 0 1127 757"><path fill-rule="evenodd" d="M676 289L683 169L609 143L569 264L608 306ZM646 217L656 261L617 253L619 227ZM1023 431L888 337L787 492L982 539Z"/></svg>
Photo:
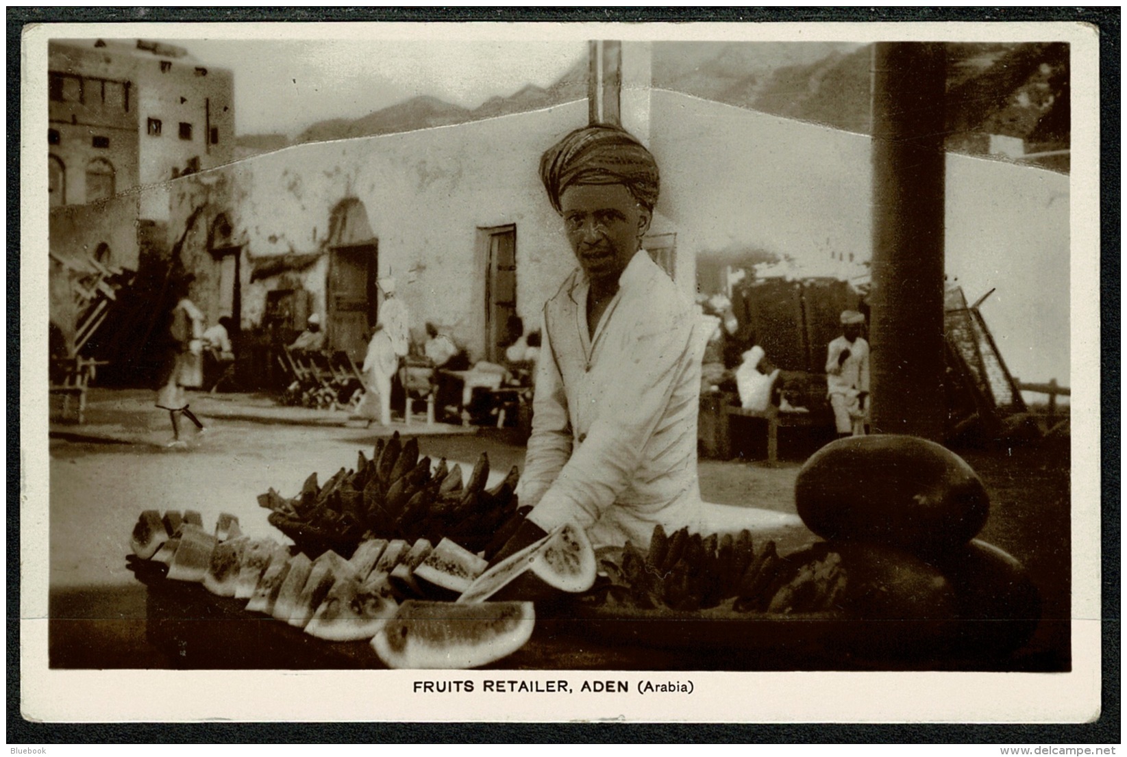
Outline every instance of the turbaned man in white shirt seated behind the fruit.
<svg viewBox="0 0 1127 757"><path fill-rule="evenodd" d="M543 309L532 435L518 486L533 505L511 554L571 520L594 546L648 545L700 511L702 340L693 310L642 249L658 197L650 152L624 130L576 130L540 176L578 267Z"/></svg>

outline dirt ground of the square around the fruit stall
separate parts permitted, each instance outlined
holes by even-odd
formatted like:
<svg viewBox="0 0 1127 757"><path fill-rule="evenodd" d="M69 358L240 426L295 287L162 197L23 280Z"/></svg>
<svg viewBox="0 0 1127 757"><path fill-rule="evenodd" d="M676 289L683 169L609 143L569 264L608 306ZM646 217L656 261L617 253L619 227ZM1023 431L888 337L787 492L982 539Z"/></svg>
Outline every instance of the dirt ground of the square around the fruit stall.
<svg viewBox="0 0 1127 757"><path fill-rule="evenodd" d="M267 425L210 420L187 451L159 446L167 419L148 410L117 421L152 442L94 443L76 436L51 440L51 657L55 667L163 667L144 638L145 591L126 569L128 535L142 509L196 509L205 523L236 515L251 536L277 536L257 495L300 490L309 473L321 480L353 467L376 433L360 426ZM131 415L132 413L132 415ZM103 419L105 420L105 419ZM140 438L140 437L137 437ZM148 438L148 437L145 437ZM523 465L524 447L507 430L427 436L420 451L472 465L487 452L494 480ZM793 447L777 466L762 462L700 462L704 500L795 513L793 483L805 451ZM796 454L797 453L797 454ZM960 449L992 498L979 538L1021 560L1040 588L1044 617L1022 667L1062 670L1070 665L1070 457L1066 444L1011 449Z"/></svg>

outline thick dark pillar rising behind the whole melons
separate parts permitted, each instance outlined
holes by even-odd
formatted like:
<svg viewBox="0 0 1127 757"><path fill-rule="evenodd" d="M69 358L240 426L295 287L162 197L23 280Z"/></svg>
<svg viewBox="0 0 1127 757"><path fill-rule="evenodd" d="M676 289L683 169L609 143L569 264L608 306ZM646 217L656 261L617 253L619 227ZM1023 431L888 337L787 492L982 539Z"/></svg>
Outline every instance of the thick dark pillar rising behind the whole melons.
<svg viewBox="0 0 1127 757"><path fill-rule="evenodd" d="M872 53L872 430L941 440L943 99L934 43Z"/></svg>

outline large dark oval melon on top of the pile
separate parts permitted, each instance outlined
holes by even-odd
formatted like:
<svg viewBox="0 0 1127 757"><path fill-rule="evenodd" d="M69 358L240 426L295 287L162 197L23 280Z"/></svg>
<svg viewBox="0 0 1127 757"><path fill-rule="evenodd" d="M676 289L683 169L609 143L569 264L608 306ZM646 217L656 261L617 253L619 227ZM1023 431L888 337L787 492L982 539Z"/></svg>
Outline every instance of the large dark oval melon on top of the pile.
<svg viewBox="0 0 1127 757"><path fill-rule="evenodd" d="M828 540L879 542L915 554L966 544L990 496L961 457L914 436L854 436L816 452L795 481L798 515Z"/></svg>

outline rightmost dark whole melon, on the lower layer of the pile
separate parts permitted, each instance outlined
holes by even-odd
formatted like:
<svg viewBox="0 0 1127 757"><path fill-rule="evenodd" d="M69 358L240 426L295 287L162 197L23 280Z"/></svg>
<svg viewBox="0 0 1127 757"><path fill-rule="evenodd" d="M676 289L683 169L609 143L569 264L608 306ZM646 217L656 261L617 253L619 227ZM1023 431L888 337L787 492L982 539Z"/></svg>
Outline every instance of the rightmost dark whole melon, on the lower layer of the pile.
<svg viewBox="0 0 1127 757"><path fill-rule="evenodd" d="M942 555L935 567L955 589L959 651L997 659L1032 638L1041 617L1041 596L1013 555L976 538Z"/></svg>

